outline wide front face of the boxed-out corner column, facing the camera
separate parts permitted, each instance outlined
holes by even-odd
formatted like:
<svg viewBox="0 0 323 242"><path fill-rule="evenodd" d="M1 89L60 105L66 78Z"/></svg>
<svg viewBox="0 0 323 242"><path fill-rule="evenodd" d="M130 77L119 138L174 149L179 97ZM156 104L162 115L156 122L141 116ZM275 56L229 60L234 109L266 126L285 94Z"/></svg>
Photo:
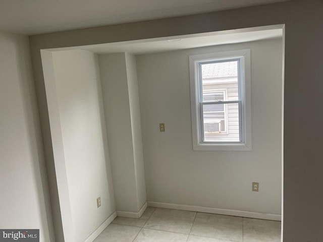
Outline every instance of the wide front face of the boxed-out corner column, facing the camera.
<svg viewBox="0 0 323 242"><path fill-rule="evenodd" d="M100 54L99 65L116 207L137 212L125 54Z"/></svg>

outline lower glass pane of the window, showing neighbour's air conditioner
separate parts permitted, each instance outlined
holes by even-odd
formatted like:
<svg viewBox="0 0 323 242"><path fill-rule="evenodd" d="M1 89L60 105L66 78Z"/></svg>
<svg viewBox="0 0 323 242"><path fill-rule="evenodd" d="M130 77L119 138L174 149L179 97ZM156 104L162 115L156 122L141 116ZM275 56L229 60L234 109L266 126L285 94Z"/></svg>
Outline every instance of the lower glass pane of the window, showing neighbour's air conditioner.
<svg viewBox="0 0 323 242"><path fill-rule="evenodd" d="M204 142L239 142L239 103L203 104Z"/></svg>

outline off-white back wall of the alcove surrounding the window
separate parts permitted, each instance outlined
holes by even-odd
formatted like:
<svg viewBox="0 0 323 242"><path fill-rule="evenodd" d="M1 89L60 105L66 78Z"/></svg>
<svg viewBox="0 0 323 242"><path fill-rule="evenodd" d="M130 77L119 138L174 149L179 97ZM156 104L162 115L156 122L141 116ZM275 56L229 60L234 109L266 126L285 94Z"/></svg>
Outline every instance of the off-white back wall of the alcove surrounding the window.
<svg viewBox="0 0 323 242"><path fill-rule="evenodd" d="M246 48L252 151L193 151L188 56ZM282 39L138 55L136 61L147 200L280 214ZM253 181L258 193L251 191Z"/></svg>

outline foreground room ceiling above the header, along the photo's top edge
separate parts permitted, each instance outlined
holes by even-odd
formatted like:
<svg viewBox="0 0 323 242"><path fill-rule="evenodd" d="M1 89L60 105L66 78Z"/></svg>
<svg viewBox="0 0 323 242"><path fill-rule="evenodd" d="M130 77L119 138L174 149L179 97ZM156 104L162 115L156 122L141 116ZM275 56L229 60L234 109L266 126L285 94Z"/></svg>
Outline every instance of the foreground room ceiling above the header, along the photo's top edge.
<svg viewBox="0 0 323 242"><path fill-rule="evenodd" d="M0 31L33 35L286 0L0 0Z"/></svg>

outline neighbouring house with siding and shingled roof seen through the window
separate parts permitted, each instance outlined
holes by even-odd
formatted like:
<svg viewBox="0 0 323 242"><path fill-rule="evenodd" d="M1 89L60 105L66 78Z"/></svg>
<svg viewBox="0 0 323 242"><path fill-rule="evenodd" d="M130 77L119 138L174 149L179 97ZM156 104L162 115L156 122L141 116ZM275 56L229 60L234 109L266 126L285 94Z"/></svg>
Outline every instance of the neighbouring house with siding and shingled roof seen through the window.
<svg viewBox="0 0 323 242"><path fill-rule="evenodd" d="M199 65L203 142L241 141L238 66L237 59Z"/></svg>

